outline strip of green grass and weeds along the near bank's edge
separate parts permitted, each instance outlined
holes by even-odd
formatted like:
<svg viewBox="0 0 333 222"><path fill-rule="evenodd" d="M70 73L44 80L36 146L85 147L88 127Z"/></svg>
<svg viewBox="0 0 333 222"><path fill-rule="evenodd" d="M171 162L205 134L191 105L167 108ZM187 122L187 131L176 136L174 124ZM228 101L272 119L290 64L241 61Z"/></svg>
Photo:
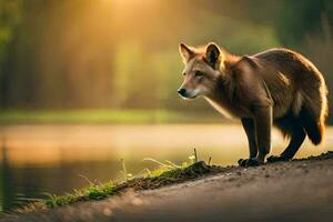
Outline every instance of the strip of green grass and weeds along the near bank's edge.
<svg viewBox="0 0 333 222"><path fill-rule="evenodd" d="M159 167L152 171L145 169L144 174L138 178L132 176L132 174L125 171L124 162L122 161L124 182L115 183L109 181L102 184L92 182L83 176L88 180L89 186L73 190L73 193L63 195L47 194L46 200L30 203L18 211L31 212L69 205L82 201L102 200L121 193L127 189L133 189L134 191L157 189L162 185L194 179L210 172L216 172L220 169L215 165L208 165L203 161L198 161L196 151L194 152L194 155L189 159L190 161L183 162L181 165L174 164L171 161L160 162L154 159L144 159L144 161L155 162Z"/></svg>

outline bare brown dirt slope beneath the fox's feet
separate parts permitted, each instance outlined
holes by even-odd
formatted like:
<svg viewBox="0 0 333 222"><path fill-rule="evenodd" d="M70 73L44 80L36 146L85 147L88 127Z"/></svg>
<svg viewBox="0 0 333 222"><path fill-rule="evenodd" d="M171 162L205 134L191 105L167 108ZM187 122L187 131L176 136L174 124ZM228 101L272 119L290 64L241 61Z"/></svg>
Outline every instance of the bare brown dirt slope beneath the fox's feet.
<svg viewBox="0 0 333 222"><path fill-rule="evenodd" d="M333 221L333 152L0 221Z"/></svg>

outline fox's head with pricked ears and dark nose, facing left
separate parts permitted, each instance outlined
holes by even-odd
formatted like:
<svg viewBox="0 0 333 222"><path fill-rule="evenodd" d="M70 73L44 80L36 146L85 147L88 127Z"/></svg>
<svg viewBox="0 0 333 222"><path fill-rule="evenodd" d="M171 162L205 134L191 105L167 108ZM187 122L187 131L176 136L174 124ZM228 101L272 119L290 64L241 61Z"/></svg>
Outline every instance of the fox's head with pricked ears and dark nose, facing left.
<svg viewBox="0 0 333 222"><path fill-rule="evenodd" d="M206 47L193 48L180 44L180 53L185 68L184 81L178 93L184 99L194 99L199 95L209 95L220 75L223 54L215 43Z"/></svg>

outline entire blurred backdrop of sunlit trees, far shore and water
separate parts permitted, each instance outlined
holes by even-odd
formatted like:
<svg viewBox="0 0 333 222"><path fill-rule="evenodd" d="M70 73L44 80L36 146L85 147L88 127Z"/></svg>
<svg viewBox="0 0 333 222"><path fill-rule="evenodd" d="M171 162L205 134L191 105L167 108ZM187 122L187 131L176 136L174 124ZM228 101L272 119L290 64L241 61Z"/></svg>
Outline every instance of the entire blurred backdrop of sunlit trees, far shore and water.
<svg viewBox="0 0 333 222"><path fill-rule="evenodd" d="M296 50L333 88L331 0L1 0L0 211L87 185L79 174L119 178L122 158L134 173L143 158L181 162L194 147L219 164L246 157L236 122L176 94L179 43L210 41L235 54ZM299 157L329 150L326 134Z"/></svg>

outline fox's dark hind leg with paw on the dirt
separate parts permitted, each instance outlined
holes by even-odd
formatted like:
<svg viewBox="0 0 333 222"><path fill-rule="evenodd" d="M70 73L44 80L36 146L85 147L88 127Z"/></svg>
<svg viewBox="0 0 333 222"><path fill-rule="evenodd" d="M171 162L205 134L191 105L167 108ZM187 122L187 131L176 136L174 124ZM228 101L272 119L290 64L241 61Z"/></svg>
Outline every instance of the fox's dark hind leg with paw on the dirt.
<svg viewBox="0 0 333 222"><path fill-rule="evenodd" d="M291 160L297 152L306 137L303 124L292 114L287 114L284 118L281 118L275 122L275 124L286 137L290 137L291 140L289 145L280 155L271 155L270 158L268 158L268 162Z"/></svg>

